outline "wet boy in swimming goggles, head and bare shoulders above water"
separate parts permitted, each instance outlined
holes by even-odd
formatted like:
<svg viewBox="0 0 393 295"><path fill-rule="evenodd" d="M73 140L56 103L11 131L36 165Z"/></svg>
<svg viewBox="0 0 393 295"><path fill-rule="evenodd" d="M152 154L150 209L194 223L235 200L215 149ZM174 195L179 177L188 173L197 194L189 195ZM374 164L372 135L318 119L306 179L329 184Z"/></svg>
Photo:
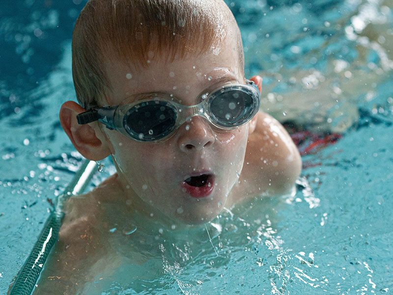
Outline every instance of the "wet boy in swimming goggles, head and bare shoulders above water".
<svg viewBox="0 0 393 295"><path fill-rule="evenodd" d="M68 200L35 294L85 294L86 282L121 259L139 264L112 228L132 223L174 239L224 208L293 187L299 152L258 111L262 79L244 77L240 31L224 1L90 0L72 58L80 104L62 105L61 125L84 157L111 156L117 173ZM146 247L154 251L154 240Z"/></svg>

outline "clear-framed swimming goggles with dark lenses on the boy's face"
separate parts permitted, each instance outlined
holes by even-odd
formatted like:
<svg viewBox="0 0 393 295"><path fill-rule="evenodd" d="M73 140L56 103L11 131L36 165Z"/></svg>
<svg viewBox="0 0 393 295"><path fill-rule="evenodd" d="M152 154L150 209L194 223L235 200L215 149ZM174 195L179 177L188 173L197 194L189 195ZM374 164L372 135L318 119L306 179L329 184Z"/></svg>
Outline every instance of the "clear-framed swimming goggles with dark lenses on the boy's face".
<svg viewBox="0 0 393 295"><path fill-rule="evenodd" d="M77 115L77 119L79 124L98 120L139 142L160 142L194 116L207 119L219 129L235 129L250 121L261 103L258 87L249 80L245 85L221 86L198 98L202 101L197 105L185 106L174 102L169 94L142 94L142 99L133 103L94 107Z"/></svg>

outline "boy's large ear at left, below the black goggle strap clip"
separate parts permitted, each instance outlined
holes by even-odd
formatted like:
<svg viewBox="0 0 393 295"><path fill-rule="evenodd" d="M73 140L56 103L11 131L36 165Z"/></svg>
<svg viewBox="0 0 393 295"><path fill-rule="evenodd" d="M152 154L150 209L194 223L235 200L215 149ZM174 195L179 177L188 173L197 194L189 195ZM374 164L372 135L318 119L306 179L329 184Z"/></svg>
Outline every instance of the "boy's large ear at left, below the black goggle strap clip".
<svg viewBox="0 0 393 295"><path fill-rule="evenodd" d="M60 109L60 123L74 147L86 158L100 161L111 154L106 137L96 122L80 125L77 115L85 112L74 101L65 102Z"/></svg>

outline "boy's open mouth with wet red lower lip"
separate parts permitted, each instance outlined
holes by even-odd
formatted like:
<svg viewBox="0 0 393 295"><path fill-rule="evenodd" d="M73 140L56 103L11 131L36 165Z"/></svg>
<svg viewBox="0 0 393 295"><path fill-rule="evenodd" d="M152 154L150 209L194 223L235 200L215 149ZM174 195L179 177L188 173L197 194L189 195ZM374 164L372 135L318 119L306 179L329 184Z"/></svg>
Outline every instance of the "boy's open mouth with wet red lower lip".
<svg viewBox="0 0 393 295"><path fill-rule="evenodd" d="M194 198L203 198L213 190L214 177L209 174L188 177L183 181L183 188Z"/></svg>

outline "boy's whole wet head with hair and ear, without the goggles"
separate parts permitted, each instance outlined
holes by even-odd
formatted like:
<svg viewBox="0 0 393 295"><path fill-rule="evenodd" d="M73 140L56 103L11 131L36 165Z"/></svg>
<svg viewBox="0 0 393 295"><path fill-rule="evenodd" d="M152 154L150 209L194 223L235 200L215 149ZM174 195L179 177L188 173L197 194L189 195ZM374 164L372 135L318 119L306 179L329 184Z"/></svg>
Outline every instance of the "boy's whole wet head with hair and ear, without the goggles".
<svg viewBox="0 0 393 295"><path fill-rule="evenodd" d="M244 84L243 62L239 29L222 0L91 0L73 36L74 83L85 109L152 92L197 105L210 89ZM188 224L223 209L256 122L221 130L196 116L165 142L149 143L98 122L79 125L82 112L74 102L60 111L74 146L90 160L112 155L119 189L135 207Z"/></svg>

